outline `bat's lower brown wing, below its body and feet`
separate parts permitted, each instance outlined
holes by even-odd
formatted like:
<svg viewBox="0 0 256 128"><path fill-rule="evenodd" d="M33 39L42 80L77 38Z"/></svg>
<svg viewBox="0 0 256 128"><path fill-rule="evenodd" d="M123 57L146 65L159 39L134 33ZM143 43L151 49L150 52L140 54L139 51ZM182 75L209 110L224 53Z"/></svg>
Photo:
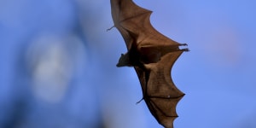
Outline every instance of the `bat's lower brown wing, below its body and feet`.
<svg viewBox="0 0 256 128"><path fill-rule="evenodd" d="M170 52L157 63L135 67L143 90L143 99L157 121L166 128L173 127L177 118L177 102L184 96L172 82L171 71L174 62L183 51Z"/></svg>

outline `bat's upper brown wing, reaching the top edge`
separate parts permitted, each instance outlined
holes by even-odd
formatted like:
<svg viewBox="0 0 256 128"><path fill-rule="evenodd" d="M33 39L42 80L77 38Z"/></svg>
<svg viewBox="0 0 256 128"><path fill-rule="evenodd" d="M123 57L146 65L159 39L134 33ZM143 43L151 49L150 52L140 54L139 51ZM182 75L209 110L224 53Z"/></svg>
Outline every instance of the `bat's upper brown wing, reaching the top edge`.
<svg viewBox="0 0 256 128"><path fill-rule="evenodd" d="M152 11L143 9L132 0L111 0L111 12L114 26L125 39L127 49L131 45L142 47L158 46L178 47L180 44L157 32L150 23Z"/></svg>

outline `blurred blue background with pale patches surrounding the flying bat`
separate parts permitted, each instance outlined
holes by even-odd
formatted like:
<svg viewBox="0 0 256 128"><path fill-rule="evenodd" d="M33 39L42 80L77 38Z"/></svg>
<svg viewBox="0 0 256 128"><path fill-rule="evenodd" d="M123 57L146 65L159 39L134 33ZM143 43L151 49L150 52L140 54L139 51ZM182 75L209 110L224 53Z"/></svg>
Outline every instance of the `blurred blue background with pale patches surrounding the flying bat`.
<svg viewBox="0 0 256 128"><path fill-rule="evenodd" d="M172 68L186 93L176 128L256 128L256 2L135 0L153 26L189 44ZM0 0L1 128L160 128L109 0Z"/></svg>

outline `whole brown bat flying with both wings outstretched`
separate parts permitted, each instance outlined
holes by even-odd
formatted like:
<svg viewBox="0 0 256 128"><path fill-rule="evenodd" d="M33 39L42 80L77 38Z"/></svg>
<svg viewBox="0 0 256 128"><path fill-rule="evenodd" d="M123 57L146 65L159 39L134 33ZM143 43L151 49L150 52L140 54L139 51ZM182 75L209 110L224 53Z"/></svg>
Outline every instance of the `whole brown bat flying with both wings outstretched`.
<svg viewBox="0 0 256 128"><path fill-rule="evenodd" d="M160 125L173 128L177 102L184 93L172 82L171 70L183 51L179 44L156 31L150 23L152 11L132 0L110 0L111 14L125 40L127 53L117 67L134 67L143 90L143 99ZM110 28L111 29L111 28ZM141 102L139 101L139 102Z"/></svg>

